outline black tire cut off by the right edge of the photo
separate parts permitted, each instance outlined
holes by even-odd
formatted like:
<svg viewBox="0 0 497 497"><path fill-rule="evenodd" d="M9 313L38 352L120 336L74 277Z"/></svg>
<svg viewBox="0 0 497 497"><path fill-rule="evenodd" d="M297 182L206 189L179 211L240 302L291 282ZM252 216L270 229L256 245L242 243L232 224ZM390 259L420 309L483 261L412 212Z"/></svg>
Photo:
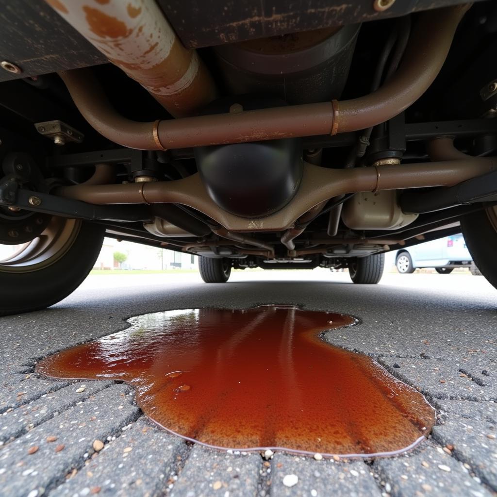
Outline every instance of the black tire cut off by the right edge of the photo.
<svg viewBox="0 0 497 497"><path fill-rule="evenodd" d="M473 262L497 288L497 207L464 216L461 229Z"/></svg>

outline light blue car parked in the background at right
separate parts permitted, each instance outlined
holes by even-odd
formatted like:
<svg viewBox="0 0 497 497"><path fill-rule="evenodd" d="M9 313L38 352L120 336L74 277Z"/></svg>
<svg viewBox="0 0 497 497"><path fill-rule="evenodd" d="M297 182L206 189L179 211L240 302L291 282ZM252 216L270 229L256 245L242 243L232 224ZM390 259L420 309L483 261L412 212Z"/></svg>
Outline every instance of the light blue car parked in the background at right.
<svg viewBox="0 0 497 497"><path fill-rule="evenodd" d="M413 273L418 267L434 267L440 274L449 274L455 267L469 267L473 274L478 273L462 234L399 250L395 265L404 274Z"/></svg>

